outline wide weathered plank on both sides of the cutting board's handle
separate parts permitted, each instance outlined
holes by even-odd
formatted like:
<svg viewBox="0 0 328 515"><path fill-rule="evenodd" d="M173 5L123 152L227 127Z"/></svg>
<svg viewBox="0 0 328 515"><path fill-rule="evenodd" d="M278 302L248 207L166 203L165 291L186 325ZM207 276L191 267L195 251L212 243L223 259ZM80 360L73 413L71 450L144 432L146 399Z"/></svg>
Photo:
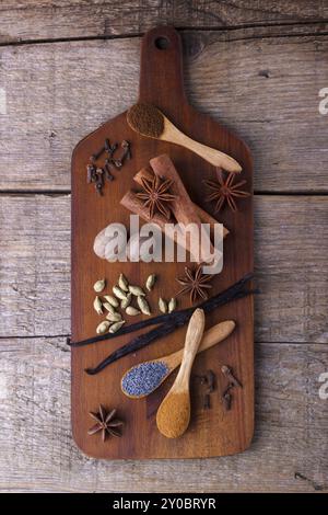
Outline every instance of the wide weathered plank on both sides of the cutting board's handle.
<svg viewBox="0 0 328 515"><path fill-rule="evenodd" d="M190 102L249 144L256 191L327 192L328 37L247 37L185 35ZM69 190L77 141L136 101L139 43L0 48L0 190Z"/></svg>

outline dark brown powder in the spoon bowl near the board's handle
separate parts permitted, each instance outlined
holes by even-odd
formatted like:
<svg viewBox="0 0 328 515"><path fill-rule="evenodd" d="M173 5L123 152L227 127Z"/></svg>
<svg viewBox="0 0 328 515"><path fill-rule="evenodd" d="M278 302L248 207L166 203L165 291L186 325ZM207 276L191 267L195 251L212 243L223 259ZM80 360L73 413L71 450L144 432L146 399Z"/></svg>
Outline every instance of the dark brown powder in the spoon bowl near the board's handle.
<svg viewBox="0 0 328 515"><path fill-rule="evenodd" d="M159 138L164 130L164 117L152 104L132 105L127 121L133 130L151 138Z"/></svg>

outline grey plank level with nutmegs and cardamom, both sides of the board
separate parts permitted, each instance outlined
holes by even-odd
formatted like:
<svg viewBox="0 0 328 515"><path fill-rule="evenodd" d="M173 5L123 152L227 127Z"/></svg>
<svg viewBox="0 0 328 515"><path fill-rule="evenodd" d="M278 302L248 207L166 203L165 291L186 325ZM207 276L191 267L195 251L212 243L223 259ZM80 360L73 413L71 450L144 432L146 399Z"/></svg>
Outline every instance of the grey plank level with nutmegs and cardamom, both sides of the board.
<svg viewBox="0 0 328 515"><path fill-rule="evenodd" d="M255 197L257 341L328 342L327 214L326 196ZM0 336L69 333L70 196L2 195L0 256Z"/></svg>

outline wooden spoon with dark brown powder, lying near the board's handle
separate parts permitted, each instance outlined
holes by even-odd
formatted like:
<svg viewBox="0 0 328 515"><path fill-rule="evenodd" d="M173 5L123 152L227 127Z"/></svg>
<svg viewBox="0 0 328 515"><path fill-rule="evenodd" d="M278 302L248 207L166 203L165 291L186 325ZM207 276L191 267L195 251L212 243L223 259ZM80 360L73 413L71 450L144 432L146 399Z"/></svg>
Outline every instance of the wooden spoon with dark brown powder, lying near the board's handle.
<svg viewBox="0 0 328 515"><path fill-rule="evenodd" d="M127 121L130 127L142 134L142 136L180 145L214 167L223 168L227 172L242 171L241 164L231 156L189 138L169 122L162 111L152 104L138 103L132 105L128 111Z"/></svg>

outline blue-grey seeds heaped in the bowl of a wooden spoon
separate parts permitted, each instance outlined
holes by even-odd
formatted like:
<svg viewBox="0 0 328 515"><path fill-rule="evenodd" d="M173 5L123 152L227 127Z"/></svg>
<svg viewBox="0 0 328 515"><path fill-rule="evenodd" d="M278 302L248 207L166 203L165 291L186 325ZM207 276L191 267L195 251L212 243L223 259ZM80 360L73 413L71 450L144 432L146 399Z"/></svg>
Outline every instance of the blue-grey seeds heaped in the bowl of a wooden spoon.
<svg viewBox="0 0 328 515"><path fill-rule="evenodd" d="M148 396L161 385L168 367L163 362L141 363L122 378L122 390L132 397Z"/></svg>

